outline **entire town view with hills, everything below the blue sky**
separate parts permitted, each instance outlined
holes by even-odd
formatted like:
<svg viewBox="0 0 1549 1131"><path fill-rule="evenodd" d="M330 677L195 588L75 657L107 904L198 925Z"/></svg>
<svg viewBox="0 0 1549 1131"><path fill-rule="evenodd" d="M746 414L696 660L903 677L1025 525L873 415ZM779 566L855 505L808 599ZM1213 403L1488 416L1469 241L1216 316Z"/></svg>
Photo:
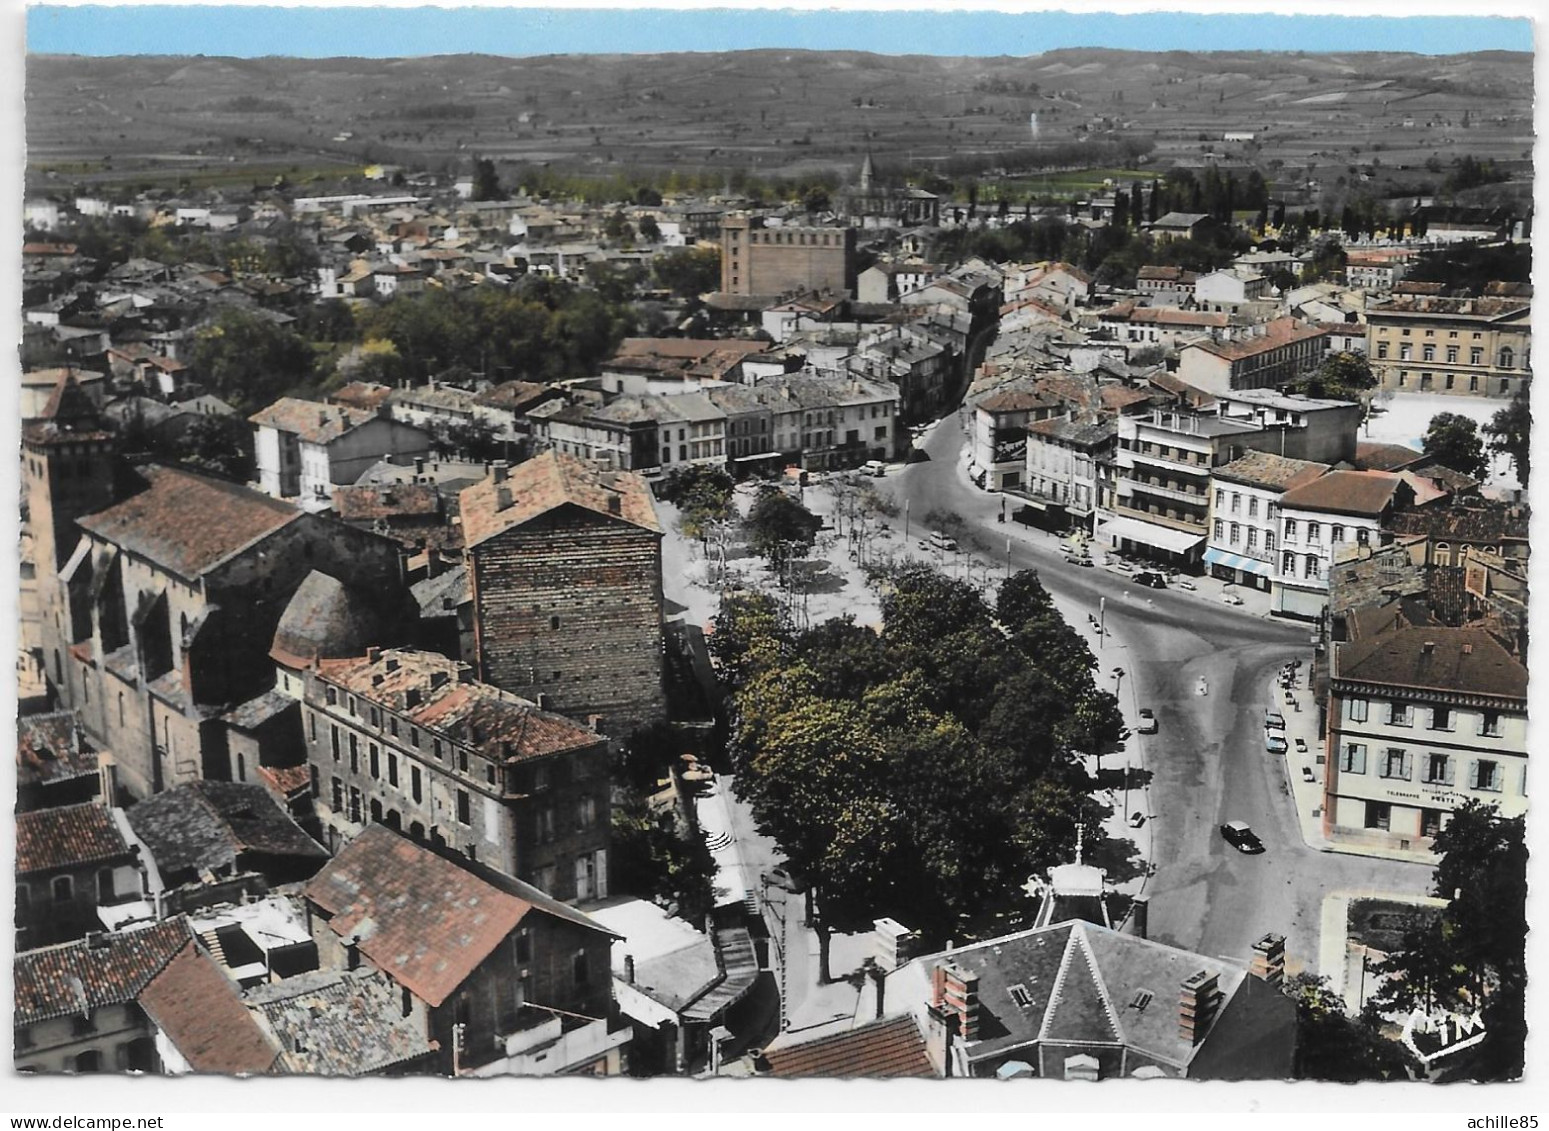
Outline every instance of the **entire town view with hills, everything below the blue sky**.
<svg viewBox="0 0 1549 1131"><path fill-rule="evenodd" d="M31 56L17 1067L1520 1077L1532 60L1360 46Z"/></svg>

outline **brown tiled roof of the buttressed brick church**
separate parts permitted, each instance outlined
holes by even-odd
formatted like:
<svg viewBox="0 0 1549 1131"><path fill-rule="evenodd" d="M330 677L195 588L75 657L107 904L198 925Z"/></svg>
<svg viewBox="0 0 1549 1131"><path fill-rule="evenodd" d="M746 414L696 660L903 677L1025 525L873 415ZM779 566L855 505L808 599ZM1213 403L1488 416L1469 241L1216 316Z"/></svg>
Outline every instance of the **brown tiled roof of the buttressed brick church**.
<svg viewBox="0 0 1549 1131"><path fill-rule="evenodd" d="M183 468L152 465L141 474L144 491L79 525L189 581L302 516L260 491Z"/></svg>

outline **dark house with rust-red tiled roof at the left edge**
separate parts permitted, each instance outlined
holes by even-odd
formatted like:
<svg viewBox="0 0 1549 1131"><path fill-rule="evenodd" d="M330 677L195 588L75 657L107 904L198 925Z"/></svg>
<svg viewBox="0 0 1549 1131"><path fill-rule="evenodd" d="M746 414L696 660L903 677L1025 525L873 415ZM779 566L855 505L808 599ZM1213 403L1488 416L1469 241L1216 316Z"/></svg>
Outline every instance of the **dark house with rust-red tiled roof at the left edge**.
<svg viewBox="0 0 1549 1131"><path fill-rule="evenodd" d="M101 931L98 908L135 899L139 861L115 812L96 803L15 818L17 948Z"/></svg>

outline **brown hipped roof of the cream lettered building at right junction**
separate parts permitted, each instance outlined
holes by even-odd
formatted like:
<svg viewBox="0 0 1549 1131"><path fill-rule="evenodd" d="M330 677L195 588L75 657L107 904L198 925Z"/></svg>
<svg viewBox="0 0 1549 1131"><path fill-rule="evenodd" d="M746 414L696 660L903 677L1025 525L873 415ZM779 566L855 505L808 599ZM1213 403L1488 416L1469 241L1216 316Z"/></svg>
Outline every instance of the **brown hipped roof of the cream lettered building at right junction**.
<svg viewBox="0 0 1549 1131"><path fill-rule="evenodd" d="M1396 627L1343 643L1335 679L1527 702L1527 668L1472 627Z"/></svg>

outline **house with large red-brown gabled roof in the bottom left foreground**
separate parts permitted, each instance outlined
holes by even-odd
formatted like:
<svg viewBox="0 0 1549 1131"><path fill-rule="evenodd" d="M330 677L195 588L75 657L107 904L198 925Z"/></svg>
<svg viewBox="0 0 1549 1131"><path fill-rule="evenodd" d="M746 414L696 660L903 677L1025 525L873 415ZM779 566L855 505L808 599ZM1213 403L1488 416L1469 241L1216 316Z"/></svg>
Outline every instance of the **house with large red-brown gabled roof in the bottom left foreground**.
<svg viewBox="0 0 1549 1131"><path fill-rule="evenodd" d="M617 1075L612 934L538 888L373 824L305 888L324 968L366 964L443 1075Z"/></svg>

